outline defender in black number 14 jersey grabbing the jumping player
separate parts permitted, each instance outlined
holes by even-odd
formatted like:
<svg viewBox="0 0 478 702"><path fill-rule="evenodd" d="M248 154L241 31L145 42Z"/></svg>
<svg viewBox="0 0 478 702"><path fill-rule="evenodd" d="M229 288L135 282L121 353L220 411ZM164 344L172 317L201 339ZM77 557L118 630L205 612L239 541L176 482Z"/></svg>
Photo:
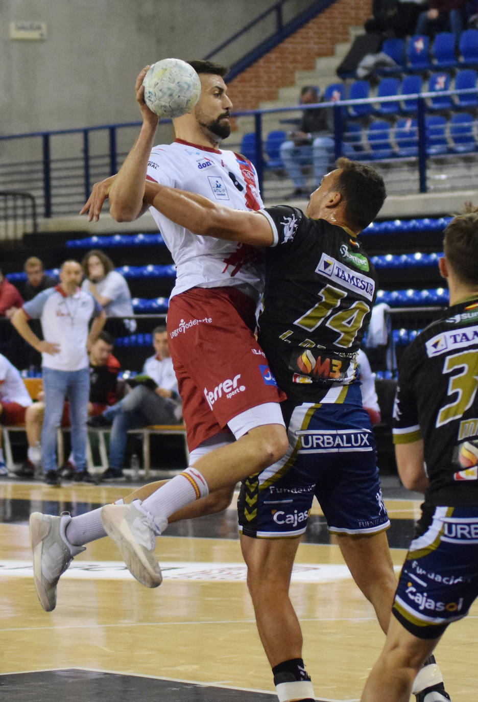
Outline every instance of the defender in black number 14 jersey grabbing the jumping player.
<svg viewBox="0 0 478 702"><path fill-rule="evenodd" d="M258 338L288 395L283 411L289 448L241 488L241 548L279 698L309 699L313 692L288 584L299 543L291 537L305 530L314 494L384 631L397 583L373 435L355 373L376 294L375 272L357 234L383 204L383 180L370 166L340 159L305 214L291 207L232 211L149 184L147 197L197 234L267 246ZM429 702L425 688L439 675L436 665L427 669L420 702Z"/></svg>

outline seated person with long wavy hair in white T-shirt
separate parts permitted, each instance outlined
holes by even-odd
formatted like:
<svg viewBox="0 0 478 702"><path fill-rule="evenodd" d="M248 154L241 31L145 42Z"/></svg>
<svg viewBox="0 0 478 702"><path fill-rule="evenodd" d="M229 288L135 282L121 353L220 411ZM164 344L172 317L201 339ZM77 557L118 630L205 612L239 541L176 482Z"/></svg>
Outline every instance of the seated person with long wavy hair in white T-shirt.
<svg viewBox="0 0 478 702"><path fill-rule="evenodd" d="M90 292L106 312L107 317L131 317L133 303L128 283L121 273L114 270L114 264L105 253L99 249L92 249L86 253L81 261L81 267L86 276L81 289ZM117 320L119 322L119 320ZM108 324L109 331L124 333L136 328L134 319L122 320L120 324Z"/></svg>

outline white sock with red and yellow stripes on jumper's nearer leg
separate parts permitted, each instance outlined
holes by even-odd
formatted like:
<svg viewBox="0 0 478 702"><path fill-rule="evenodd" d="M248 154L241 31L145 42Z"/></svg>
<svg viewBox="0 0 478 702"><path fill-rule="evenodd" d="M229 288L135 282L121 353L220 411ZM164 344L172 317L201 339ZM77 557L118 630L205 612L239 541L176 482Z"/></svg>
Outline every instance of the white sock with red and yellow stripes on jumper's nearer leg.
<svg viewBox="0 0 478 702"><path fill-rule="evenodd" d="M150 512L153 517L171 517L186 505L209 494L206 479L199 470L186 468L179 475L175 475L165 485L162 485L152 495L142 501L143 510Z"/></svg>

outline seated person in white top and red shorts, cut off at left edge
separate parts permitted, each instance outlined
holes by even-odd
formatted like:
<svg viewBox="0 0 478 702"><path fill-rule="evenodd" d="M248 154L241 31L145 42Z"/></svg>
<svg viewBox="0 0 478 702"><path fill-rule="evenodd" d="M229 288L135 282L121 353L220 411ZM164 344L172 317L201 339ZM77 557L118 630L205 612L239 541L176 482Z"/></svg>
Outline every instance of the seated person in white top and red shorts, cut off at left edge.
<svg viewBox="0 0 478 702"><path fill-rule="evenodd" d="M25 413L32 404L20 372L0 354L0 421L4 425L25 423ZM0 432L0 475L8 475Z"/></svg>

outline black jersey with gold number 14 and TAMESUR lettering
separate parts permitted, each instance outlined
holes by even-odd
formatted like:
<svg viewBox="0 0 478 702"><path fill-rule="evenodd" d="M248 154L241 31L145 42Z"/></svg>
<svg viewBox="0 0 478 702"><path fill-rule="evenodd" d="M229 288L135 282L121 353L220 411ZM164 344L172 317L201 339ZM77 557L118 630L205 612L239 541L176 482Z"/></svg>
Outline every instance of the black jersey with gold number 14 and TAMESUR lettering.
<svg viewBox="0 0 478 702"><path fill-rule="evenodd" d="M373 265L343 227L293 207L261 213L274 244L258 340L272 373L292 402L344 402L376 296Z"/></svg>

